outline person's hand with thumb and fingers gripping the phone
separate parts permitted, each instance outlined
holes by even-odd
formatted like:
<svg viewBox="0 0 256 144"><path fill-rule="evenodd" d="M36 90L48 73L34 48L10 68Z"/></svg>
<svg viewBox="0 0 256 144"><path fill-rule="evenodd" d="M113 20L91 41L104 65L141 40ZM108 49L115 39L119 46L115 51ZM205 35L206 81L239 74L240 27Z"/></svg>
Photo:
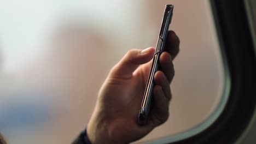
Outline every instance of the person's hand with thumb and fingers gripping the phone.
<svg viewBox="0 0 256 144"><path fill-rule="evenodd" d="M153 106L146 125L138 125L138 111L146 87L154 48L130 50L116 64L103 83L87 133L92 143L129 143L146 136L168 118L170 82L174 76L172 59L179 51L179 39L168 32L166 52L154 76ZM149 62L150 61L150 62Z"/></svg>

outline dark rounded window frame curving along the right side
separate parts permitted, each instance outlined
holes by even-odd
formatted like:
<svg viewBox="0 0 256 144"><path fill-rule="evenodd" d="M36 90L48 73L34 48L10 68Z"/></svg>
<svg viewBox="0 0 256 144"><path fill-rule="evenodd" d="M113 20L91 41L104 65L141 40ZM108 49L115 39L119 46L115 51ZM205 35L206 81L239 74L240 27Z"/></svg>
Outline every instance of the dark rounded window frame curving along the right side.
<svg viewBox="0 0 256 144"><path fill-rule="evenodd" d="M246 4L243 0L209 1L223 58L222 99L198 127L148 143L239 143L255 121L256 52Z"/></svg>

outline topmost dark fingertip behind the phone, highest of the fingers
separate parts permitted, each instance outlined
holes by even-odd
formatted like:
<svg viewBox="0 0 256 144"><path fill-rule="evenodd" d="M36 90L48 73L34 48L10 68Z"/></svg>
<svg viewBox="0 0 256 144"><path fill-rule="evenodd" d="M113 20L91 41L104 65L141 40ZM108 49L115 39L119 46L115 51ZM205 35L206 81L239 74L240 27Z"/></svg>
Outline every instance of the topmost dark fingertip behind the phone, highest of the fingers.
<svg viewBox="0 0 256 144"><path fill-rule="evenodd" d="M179 52L179 38L173 31L168 31L166 43L165 43L165 51L170 53L172 59L174 59Z"/></svg>

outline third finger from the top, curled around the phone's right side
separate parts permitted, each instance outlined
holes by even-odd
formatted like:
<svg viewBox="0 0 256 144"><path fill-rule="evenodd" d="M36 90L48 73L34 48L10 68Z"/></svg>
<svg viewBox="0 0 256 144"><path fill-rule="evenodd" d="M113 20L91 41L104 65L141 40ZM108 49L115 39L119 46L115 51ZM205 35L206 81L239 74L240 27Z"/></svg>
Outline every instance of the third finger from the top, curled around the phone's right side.
<svg viewBox="0 0 256 144"><path fill-rule="evenodd" d="M162 73L162 71L157 71L155 73L154 82L155 82L155 85L159 85L162 87L162 91L164 92L166 99L170 101L172 98L170 83L167 80L165 74Z"/></svg>

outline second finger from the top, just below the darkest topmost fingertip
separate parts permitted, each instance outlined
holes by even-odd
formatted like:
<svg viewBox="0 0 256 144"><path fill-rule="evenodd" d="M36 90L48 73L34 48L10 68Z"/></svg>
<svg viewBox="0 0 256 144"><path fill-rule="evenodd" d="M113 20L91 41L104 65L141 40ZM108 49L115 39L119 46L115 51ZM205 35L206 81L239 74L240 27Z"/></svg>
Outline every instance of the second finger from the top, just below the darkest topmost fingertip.
<svg viewBox="0 0 256 144"><path fill-rule="evenodd" d="M165 74L168 82L170 83L174 76L174 66L172 63L172 58L169 53L163 52L160 56L160 67L163 73Z"/></svg>

